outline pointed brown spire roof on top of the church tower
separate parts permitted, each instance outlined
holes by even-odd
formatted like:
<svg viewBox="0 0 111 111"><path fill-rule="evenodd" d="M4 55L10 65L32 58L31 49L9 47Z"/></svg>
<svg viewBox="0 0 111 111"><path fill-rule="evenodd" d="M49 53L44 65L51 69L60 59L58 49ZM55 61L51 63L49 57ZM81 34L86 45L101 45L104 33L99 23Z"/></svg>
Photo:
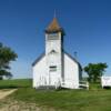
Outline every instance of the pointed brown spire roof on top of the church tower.
<svg viewBox="0 0 111 111"><path fill-rule="evenodd" d="M63 32L63 29L60 27L57 18L54 17L52 22L46 29L46 32L50 33L50 32L59 32L59 31Z"/></svg>

